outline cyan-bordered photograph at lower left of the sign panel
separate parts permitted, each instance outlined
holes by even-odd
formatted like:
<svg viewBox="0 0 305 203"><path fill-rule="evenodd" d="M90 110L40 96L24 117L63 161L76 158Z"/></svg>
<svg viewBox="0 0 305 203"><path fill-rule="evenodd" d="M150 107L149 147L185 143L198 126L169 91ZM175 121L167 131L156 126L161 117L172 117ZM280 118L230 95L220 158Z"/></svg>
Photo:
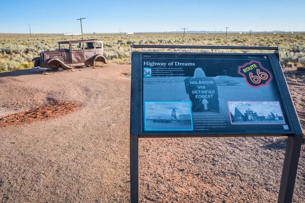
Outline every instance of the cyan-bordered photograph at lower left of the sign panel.
<svg viewBox="0 0 305 203"><path fill-rule="evenodd" d="M145 130L193 130L189 101L145 102Z"/></svg>

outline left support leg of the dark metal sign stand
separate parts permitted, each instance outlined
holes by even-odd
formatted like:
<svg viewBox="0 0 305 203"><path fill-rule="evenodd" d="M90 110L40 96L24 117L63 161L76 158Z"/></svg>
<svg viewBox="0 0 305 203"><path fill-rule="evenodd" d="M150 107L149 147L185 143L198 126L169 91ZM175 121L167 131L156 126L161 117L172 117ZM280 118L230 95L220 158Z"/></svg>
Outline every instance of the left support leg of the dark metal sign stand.
<svg viewBox="0 0 305 203"><path fill-rule="evenodd" d="M139 137L130 136L130 202L139 202Z"/></svg>

